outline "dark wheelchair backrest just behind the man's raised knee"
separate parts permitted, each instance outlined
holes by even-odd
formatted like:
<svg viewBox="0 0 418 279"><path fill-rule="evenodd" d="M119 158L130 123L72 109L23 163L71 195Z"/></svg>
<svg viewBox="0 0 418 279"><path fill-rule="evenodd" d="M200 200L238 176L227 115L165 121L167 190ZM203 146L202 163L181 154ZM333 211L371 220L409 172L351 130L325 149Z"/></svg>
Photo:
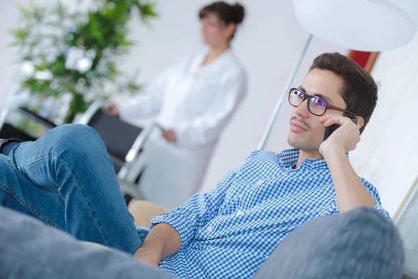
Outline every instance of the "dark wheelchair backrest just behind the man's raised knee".
<svg viewBox="0 0 418 279"><path fill-rule="evenodd" d="M122 121L117 116L109 116L102 110L97 110L87 125L98 131L106 144L107 152L123 162L142 130Z"/></svg>

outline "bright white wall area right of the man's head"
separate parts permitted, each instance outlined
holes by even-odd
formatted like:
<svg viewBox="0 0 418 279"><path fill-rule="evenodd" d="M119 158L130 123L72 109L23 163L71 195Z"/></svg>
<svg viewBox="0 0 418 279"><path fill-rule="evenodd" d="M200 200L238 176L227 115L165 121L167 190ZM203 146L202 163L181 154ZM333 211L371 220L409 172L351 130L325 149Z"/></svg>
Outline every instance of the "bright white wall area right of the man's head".
<svg viewBox="0 0 418 279"><path fill-rule="evenodd" d="M351 159L379 190L391 215L418 175L418 36L405 47L380 54L373 77L379 100Z"/></svg>

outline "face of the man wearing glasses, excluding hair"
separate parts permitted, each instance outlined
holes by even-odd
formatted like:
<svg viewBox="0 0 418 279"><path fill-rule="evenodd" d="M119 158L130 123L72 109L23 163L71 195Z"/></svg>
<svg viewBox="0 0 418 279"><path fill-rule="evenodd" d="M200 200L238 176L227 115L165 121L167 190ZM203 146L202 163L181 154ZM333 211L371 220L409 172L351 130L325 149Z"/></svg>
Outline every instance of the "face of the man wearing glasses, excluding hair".
<svg viewBox="0 0 418 279"><path fill-rule="evenodd" d="M329 70L311 70L304 78L299 89L305 93L327 100L330 105L346 107L341 96L343 81ZM308 110L308 100L298 107L292 107L291 130L288 135L288 144L295 149L315 151L323 142L325 128L319 119L322 116L311 114ZM326 114L343 114L336 110L327 110Z"/></svg>

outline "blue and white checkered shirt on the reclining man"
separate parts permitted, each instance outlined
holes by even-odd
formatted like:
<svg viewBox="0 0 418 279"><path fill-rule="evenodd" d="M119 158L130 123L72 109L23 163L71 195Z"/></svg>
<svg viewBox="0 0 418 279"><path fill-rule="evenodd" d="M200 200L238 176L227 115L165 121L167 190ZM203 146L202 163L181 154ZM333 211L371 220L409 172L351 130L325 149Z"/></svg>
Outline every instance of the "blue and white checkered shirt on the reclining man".
<svg viewBox="0 0 418 279"><path fill-rule="evenodd" d="M215 190L153 218L153 225L173 226L182 241L160 268L180 278L251 278L293 229L339 213L325 160L304 160L293 169L298 156L295 149L254 151ZM376 188L362 181L376 210L390 220Z"/></svg>

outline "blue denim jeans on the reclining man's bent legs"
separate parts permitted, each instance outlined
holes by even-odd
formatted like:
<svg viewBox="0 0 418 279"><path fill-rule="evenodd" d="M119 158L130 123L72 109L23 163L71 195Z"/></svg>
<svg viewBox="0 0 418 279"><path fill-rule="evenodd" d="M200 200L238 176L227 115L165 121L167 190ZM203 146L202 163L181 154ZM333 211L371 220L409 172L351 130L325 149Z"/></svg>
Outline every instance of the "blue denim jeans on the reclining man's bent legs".
<svg viewBox="0 0 418 279"><path fill-rule="evenodd" d="M0 205L133 254L141 240L100 135L63 125L0 154Z"/></svg>

